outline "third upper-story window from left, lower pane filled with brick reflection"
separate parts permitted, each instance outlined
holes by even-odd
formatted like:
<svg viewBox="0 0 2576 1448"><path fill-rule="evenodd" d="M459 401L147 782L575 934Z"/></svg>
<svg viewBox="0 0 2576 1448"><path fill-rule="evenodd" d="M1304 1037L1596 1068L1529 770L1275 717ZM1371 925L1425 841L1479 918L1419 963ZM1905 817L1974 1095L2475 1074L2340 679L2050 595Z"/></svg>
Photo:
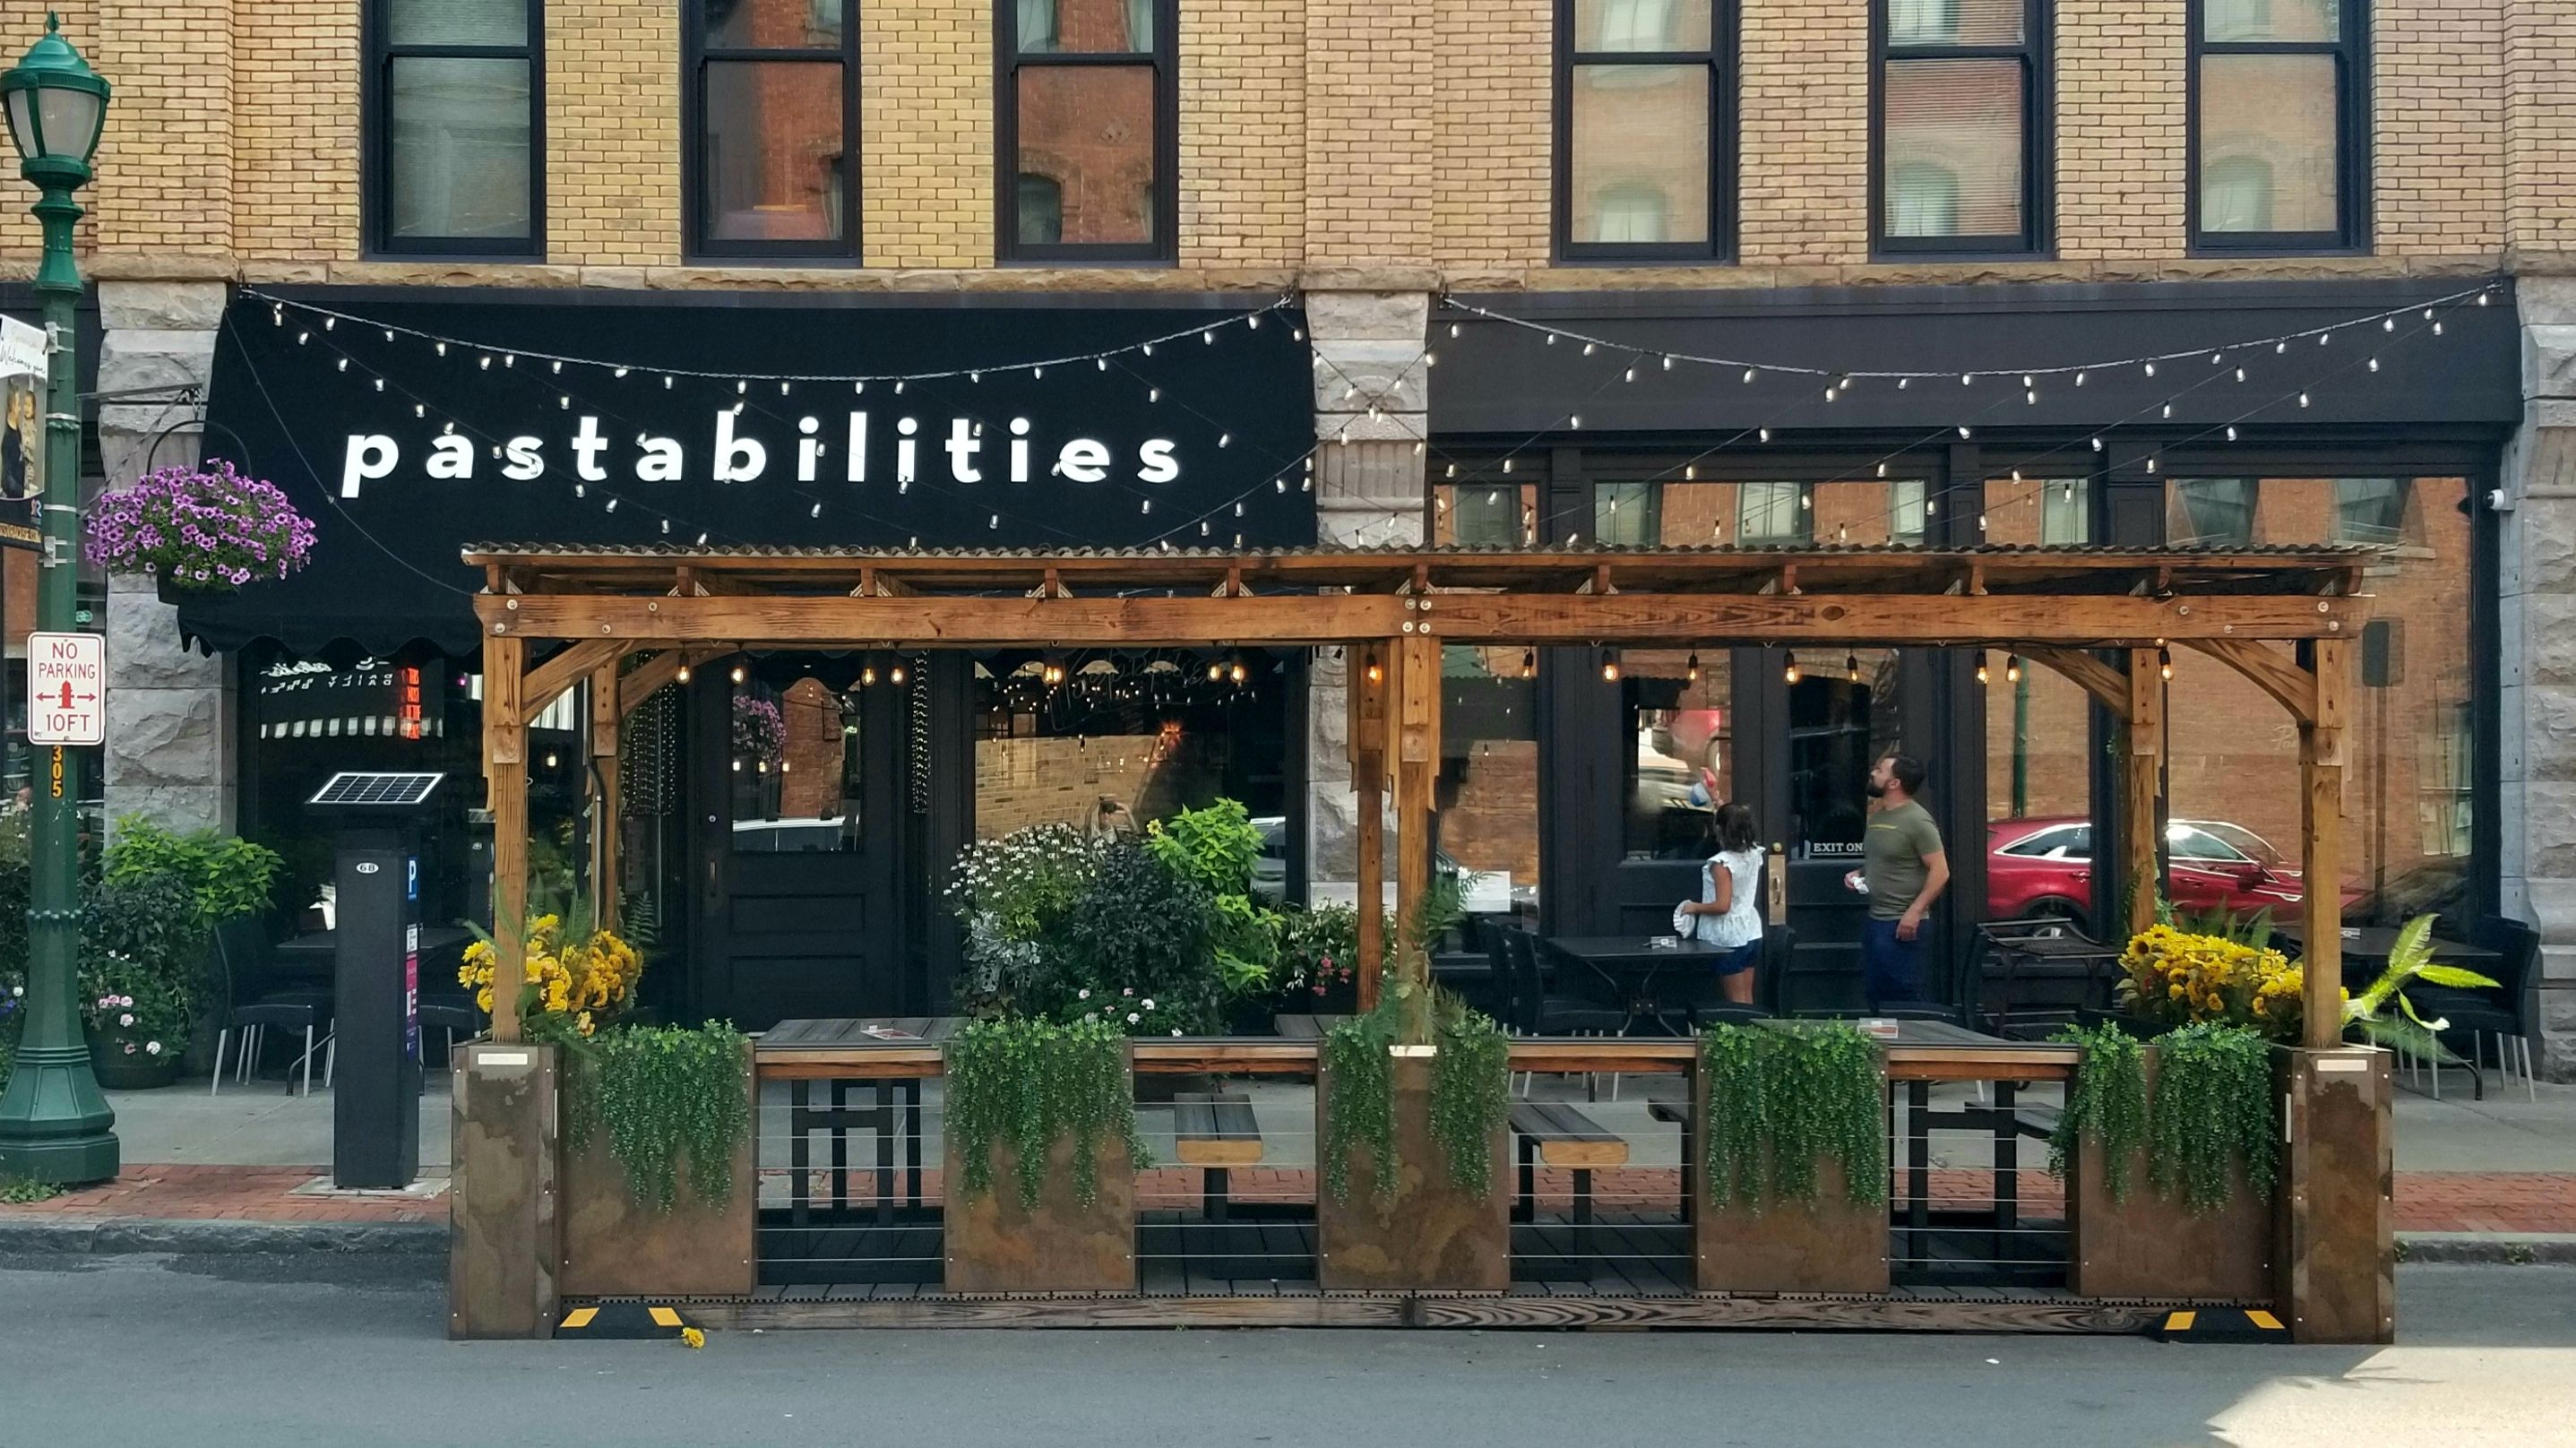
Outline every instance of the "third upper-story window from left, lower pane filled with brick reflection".
<svg viewBox="0 0 2576 1448"><path fill-rule="evenodd" d="M997 0L1002 260L1172 260L1172 0Z"/></svg>

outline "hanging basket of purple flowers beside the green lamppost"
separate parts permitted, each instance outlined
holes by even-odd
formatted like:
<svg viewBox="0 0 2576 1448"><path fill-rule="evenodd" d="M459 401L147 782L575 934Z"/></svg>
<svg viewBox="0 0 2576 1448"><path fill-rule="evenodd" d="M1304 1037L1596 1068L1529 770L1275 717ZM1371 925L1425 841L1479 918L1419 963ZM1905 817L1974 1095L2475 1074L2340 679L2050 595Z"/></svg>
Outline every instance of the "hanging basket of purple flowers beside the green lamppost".
<svg viewBox="0 0 2576 1448"><path fill-rule="evenodd" d="M304 567L314 526L270 482L229 461L170 466L90 510L85 554L121 575L147 575L173 593L232 593Z"/></svg>

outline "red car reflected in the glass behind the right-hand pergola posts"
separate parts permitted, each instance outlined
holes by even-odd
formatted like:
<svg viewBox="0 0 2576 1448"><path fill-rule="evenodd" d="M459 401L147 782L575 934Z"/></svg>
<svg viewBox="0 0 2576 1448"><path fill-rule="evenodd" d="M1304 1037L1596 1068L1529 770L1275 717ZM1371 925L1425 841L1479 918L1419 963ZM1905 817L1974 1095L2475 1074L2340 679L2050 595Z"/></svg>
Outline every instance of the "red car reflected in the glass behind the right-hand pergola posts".
<svg viewBox="0 0 2576 1448"><path fill-rule="evenodd" d="M2241 824L2174 819L2164 827L2172 855L2177 910L2226 907L2233 915L2269 910L2275 917L2306 894L2298 866L2282 861L2262 835ZM1986 917L2022 920L2092 915L2089 819L1996 819L1986 824Z"/></svg>

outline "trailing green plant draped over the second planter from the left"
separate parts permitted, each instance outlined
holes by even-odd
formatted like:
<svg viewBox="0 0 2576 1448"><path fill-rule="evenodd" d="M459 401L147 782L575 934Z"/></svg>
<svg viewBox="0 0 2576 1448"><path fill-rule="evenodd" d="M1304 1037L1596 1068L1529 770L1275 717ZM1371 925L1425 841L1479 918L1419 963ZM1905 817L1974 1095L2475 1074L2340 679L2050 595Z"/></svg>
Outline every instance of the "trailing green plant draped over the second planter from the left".
<svg viewBox="0 0 2576 1448"><path fill-rule="evenodd" d="M1103 1018L1072 1023L971 1020L948 1038L948 1139L958 1196L992 1190L992 1149L1010 1144L1020 1208L1046 1193L1046 1154L1074 1141L1074 1201L1100 1201L1100 1141L1126 1141L1136 1170L1151 1165L1136 1131L1126 1031Z"/></svg>

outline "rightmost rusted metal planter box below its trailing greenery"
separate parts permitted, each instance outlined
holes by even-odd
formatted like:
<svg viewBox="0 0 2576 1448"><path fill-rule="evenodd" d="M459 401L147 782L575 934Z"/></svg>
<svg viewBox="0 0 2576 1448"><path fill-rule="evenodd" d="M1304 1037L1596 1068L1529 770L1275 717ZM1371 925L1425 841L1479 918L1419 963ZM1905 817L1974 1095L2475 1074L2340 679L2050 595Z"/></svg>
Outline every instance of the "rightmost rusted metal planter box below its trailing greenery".
<svg viewBox="0 0 2576 1448"><path fill-rule="evenodd" d="M2156 1049L2141 1051L2148 1100ZM2272 1301L2272 1196L2236 1190L2218 1211L2192 1211L2148 1185L2146 1152L2128 1162L2128 1201L2112 1201L2102 1152L2079 1141L2066 1193L2066 1286L2079 1296Z"/></svg>

